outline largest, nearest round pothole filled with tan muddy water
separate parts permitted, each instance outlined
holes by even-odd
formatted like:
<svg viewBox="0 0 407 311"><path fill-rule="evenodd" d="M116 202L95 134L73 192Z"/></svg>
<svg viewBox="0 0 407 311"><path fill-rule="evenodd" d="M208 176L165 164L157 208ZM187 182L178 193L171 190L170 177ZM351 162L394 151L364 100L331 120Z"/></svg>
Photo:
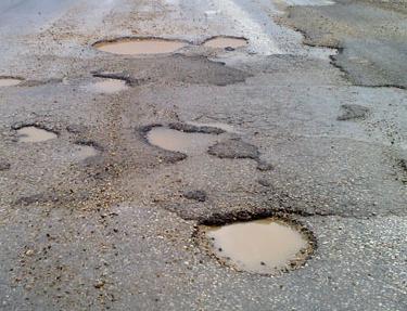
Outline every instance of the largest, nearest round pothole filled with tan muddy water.
<svg viewBox="0 0 407 311"><path fill-rule="evenodd" d="M302 232L272 218L204 226L203 232L216 257L241 271L272 274L300 265L311 251Z"/></svg>

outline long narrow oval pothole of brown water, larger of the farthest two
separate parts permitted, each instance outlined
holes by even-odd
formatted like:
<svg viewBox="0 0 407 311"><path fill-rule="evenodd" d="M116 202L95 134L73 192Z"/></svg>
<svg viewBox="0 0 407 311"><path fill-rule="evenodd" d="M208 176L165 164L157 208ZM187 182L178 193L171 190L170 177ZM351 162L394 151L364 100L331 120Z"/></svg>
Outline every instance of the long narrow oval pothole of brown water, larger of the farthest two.
<svg viewBox="0 0 407 311"><path fill-rule="evenodd" d="M166 40L157 38L126 38L114 41L98 42L93 47L100 51L119 55L150 55L173 53L188 46L180 40Z"/></svg>

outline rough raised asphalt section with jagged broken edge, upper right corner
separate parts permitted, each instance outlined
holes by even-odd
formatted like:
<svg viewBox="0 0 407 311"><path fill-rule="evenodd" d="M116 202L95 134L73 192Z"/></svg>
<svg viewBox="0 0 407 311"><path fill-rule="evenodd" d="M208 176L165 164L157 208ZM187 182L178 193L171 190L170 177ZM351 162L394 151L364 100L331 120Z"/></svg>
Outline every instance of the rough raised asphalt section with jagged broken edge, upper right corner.
<svg viewBox="0 0 407 311"><path fill-rule="evenodd" d="M293 7L288 23L307 44L339 48L332 61L356 85L407 88L407 3L339 0L327 7Z"/></svg>

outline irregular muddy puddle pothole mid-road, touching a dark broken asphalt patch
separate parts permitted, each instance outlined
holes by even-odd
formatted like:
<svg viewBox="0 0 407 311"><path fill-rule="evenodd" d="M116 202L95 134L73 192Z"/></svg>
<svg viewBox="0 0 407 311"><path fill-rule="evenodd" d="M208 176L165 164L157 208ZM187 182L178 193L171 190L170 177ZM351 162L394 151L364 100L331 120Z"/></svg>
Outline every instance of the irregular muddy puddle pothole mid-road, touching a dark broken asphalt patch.
<svg viewBox="0 0 407 311"><path fill-rule="evenodd" d="M205 153L207 147L217 141L217 138L213 134L154 127L147 133L147 140L150 144L166 151L196 155Z"/></svg>

